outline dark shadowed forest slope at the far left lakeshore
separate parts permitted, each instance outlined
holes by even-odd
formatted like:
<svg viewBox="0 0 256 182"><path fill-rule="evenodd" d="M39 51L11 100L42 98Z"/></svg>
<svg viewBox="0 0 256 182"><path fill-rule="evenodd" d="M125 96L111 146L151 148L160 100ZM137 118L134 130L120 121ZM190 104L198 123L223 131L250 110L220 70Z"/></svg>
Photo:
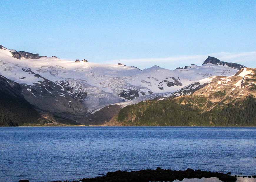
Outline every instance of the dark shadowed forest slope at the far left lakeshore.
<svg viewBox="0 0 256 182"><path fill-rule="evenodd" d="M22 126L36 123L40 115L30 103L0 91L0 126Z"/></svg>

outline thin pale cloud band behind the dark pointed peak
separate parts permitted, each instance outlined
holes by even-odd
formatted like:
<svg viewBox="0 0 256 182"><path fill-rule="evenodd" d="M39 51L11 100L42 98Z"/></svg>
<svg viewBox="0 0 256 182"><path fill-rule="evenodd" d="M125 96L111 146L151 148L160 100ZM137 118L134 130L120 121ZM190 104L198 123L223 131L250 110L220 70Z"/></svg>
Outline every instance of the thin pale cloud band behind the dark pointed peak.
<svg viewBox="0 0 256 182"><path fill-rule="evenodd" d="M256 51L240 53L217 52L205 55L181 55L159 58L116 59L107 63L117 64L120 62L125 65L139 67L140 69L149 68L154 65L167 69L175 69L176 67L184 67L190 64L201 65L208 56L216 57L225 62L234 62L253 68L256 67Z"/></svg>

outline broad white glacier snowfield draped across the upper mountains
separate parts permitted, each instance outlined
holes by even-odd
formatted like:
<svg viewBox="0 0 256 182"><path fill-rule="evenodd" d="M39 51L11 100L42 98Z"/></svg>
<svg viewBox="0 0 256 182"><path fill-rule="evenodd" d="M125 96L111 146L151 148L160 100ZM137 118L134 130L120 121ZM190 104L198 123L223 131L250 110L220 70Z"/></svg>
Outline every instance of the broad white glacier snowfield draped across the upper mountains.
<svg viewBox="0 0 256 182"><path fill-rule="evenodd" d="M158 66L140 70L132 66L75 62L55 57L16 59L12 57L13 51L4 47L0 49L0 75L31 86L41 83L41 77L44 77L61 88L72 87L67 91L71 95L86 92L82 102L89 111L114 103L127 105L156 96L169 96L196 81L207 81L211 76L231 76L237 72L237 69L213 64L176 70Z"/></svg>

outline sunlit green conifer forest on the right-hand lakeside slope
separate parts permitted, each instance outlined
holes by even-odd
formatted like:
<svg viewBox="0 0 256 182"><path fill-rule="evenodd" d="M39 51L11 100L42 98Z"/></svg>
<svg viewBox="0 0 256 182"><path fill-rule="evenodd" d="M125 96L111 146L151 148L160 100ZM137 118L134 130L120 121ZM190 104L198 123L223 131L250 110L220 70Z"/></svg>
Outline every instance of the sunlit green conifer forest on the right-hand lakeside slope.
<svg viewBox="0 0 256 182"><path fill-rule="evenodd" d="M128 126L256 126L256 99L212 106L206 98L190 96L164 101L146 101L120 110L117 120Z"/></svg>

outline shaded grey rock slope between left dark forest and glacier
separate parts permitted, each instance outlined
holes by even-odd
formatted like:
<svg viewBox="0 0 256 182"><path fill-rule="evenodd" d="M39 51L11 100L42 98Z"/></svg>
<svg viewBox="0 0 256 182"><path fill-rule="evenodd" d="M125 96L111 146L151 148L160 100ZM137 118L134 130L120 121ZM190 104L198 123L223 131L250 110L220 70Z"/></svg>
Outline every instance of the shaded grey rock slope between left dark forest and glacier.
<svg viewBox="0 0 256 182"><path fill-rule="evenodd" d="M34 75L34 77L40 78L41 81L37 81L33 85L18 84L14 81L8 80L3 76L0 76L0 92L8 94L9 100L21 100L23 104L26 104L27 108L31 107L31 112L36 110L39 113L47 115L40 115L38 122L44 123L67 123L67 124L79 124L84 120L84 113L87 112L87 108L82 104L82 101L87 97L87 93L77 92L72 94L72 87L64 87L61 84L56 84L39 74L35 74L29 68L22 69L28 74ZM26 79L21 77L20 79ZM1 103L6 104L5 101ZM19 106L19 104L17 104ZM13 107L10 106L10 109ZM50 114L52 113L52 114ZM31 116L32 117L32 116ZM56 117L56 120L54 119ZM24 117L26 119L26 117ZM36 118L37 119L37 118ZM33 121L36 121L34 119ZM29 122L31 122L29 120ZM26 123L26 121L24 122Z"/></svg>

